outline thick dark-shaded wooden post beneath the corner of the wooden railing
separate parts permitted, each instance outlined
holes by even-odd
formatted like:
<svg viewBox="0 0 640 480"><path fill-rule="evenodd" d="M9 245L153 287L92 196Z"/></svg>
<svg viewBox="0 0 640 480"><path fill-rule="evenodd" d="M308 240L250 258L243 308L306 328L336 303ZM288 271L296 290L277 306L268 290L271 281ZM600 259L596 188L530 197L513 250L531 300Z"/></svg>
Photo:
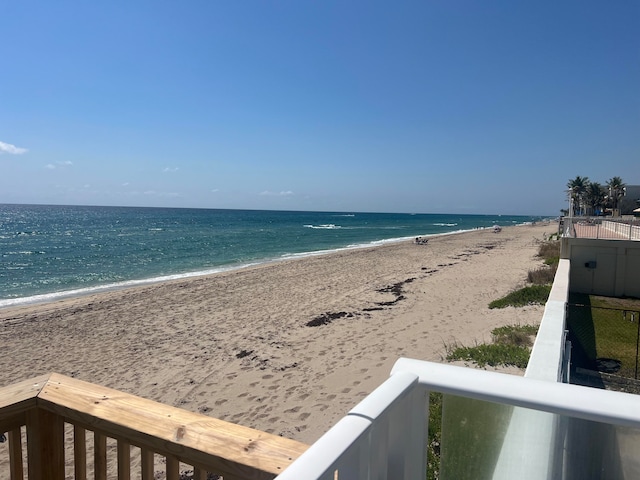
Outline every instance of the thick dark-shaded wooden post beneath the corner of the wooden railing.
<svg viewBox="0 0 640 480"><path fill-rule="evenodd" d="M27 412L29 480L64 480L64 421L39 408Z"/></svg>

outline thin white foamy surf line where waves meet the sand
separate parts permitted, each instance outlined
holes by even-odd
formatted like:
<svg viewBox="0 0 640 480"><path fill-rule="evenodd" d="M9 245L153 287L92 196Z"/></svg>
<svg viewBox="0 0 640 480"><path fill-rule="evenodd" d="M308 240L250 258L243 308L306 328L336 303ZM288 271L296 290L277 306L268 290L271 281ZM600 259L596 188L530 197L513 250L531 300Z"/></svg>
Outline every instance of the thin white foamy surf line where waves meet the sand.
<svg viewBox="0 0 640 480"><path fill-rule="evenodd" d="M528 225L528 223L517 224L513 226L521 227L526 225ZM439 237L439 236L445 236L445 235L459 235L459 234L464 234L464 233L474 232L479 230L490 230L491 228L492 227L477 227L469 230L454 230L451 232L444 232L444 233L423 234L423 235L420 235L420 237L433 238L433 237ZM337 247L337 248L332 248L328 250L317 250L317 251L302 252L302 253L283 254L280 257L276 257L276 258L264 258L261 260L256 260L255 262L242 263L234 266L220 266L220 267L215 267L215 268L206 269L206 270L196 270L192 272L175 273L175 274L169 274L169 275L162 275L159 277L123 280L121 282L108 283L104 285L95 285L95 286L85 287L85 288L74 288L74 289L62 290L58 292L29 295L26 297L4 298L4 299L0 299L0 312L8 308L30 306L30 305L42 305L50 302L70 300L70 299L81 298L89 295L98 295L102 293L126 290L128 288L156 285L159 283L171 282L174 280L183 280L183 279L190 279L190 278L197 278L197 277L206 277L210 275L224 274L227 272L243 270L246 268L253 268L260 265L268 265L271 263L304 259L307 257L314 257L314 256L332 255L334 253L339 253L339 252L348 251L348 250L375 248L382 245L410 241L413 238L414 237L411 236L411 237L372 240L371 242L368 242L368 243L347 245L344 247Z"/></svg>

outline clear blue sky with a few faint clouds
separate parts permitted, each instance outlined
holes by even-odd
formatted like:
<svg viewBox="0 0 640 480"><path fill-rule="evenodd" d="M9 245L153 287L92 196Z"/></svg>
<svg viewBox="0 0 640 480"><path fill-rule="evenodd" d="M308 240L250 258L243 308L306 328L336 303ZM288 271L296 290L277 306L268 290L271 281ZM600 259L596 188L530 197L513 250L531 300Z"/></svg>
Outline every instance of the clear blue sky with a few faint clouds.
<svg viewBox="0 0 640 480"><path fill-rule="evenodd" d="M640 184L640 2L0 1L0 203L556 215Z"/></svg>

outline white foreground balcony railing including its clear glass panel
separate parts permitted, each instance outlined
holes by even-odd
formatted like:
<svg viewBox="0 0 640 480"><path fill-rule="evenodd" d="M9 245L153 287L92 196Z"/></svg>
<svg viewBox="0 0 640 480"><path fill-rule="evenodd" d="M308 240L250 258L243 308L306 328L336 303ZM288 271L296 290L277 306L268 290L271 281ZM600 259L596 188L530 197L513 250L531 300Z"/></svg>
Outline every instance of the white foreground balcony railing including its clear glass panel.
<svg viewBox="0 0 640 480"><path fill-rule="evenodd" d="M400 359L391 378L277 480L425 478L429 392L458 399L449 443L443 419L441 479L615 479L640 471L636 395Z"/></svg>

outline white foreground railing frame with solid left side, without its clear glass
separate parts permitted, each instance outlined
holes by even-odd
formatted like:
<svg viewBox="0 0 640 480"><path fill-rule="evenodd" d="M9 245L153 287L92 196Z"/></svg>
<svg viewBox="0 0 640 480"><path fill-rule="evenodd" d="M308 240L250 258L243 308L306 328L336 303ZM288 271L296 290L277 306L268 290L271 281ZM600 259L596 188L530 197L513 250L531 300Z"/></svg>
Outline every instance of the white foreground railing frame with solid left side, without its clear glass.
<svg viewBox="0 0 640 480"><path fill-rule="evenodd" d="M428 409L429 392L559 415L554 433L558 441L556 445L560 446L571 436L572 419L605 426L640 428L640 397L635 395L401 358L394 365L391 378L349 412L277 479L425 478L425 412ZM473 412L470 414L473 415ZM510 415L510 412L505 415ZM462 426L468 418L459 420ZM530 430L535 429L536 425L532 424L522 434L528 435ZM402 433L398 434L397 430L402 430ZM615 435L619 433L614 432L614 440ZM483 440L495 442L495 438L489 435L486 439L480 438L480 441ZM615 450L617 443L613 445L614 440L611 437L594 439L607 450ZM619 438L617 442L620 442ZM632 443L631 447L628 445L627 442L625 448L638 451L637 442ZM443 442L442 451L447 448L449 446ZM517 478L577 478L572 476L572 468L578 462L584 463L584 458L566 458L563 448L554 451L556 447L553 444L548 448L549 468L543 469L543 474L536 473L533 476L523 467ZM586 452L586 455L593 455L593 452ZM527 451L519 452L513 463L517 466L521 458L526 456ZM559 465L558 459L561 462ZM638 461L637 456L634 458L632 455L631 459L632 462ZM526 462L522 464L526 465ZM632 467L637 468L637 465ZM489 476L481 477L476 475L473 468L473 465L468 465L468 470L473 472L469 478L513 478L514 474L511 468L509 477L501 477L499 471L491 468ZM596 470L600 475L603 468L597 467Z"/></svg>

